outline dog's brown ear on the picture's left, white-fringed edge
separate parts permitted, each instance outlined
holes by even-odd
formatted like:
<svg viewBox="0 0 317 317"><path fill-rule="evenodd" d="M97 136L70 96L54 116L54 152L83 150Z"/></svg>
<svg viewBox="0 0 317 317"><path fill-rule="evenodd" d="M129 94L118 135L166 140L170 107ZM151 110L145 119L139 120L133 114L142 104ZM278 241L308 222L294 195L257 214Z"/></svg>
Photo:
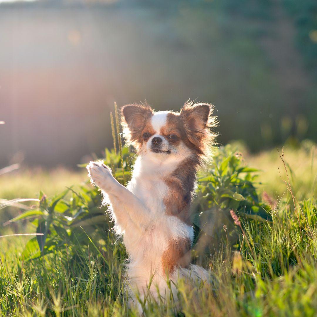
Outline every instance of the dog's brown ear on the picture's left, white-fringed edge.
<svg viewBox="0 0 317 317"><path fill-rule="evenodd" d="M152 108L147 104L132 104L121 108L121 125L127 144L137 146L146 121L153 115Z"/></svg>

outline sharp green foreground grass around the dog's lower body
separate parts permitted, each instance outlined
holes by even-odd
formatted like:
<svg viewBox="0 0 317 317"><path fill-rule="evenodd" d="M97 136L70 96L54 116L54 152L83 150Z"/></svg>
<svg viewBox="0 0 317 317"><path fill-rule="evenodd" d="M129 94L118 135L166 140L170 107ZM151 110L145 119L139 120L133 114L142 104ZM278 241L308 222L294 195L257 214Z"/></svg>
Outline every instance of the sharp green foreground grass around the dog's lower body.
<svg viewBox="0 0 317 317"><path fill-rule="evenodd" d="M305 216L313 212L312 206L304 209ZM316 217L311 219L306 229L316 233ZM200 285L194 293L180 284L182 312L186 316L314 316L316 236L304 234L303 239L294 230L295 221L286 212L281 218L273 216L271 223L242 222L248 243L242 243L240 253L223 246L210 258L212 286ZM124 249L113 243L113 237L105 241L102 255L72 245L69 249L76 251L75 257L56 252L23 262L21 238L11 245L5 240L0 270L2 314L136 315L122 300ZM154 304L146 315L172 316L171 307Z"/></svg>

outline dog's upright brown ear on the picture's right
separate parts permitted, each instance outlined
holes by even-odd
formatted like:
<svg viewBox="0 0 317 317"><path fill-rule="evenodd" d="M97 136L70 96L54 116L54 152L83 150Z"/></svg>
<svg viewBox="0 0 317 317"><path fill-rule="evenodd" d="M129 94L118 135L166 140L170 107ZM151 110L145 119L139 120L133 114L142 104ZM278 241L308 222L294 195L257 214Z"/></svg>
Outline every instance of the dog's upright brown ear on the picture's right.
<svg viewBox="0 0 317 317"><path fill-rule="evenodd" d="M197 131L210 127L212 106L208 103L186 102L180 111L185 126L191 131Z"/></svg>

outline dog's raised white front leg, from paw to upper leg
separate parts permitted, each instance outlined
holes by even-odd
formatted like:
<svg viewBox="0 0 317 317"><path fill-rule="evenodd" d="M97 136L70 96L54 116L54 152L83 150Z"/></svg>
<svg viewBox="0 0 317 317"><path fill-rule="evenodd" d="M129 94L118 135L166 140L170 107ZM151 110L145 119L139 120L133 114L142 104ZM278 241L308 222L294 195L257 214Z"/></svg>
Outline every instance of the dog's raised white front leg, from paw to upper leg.
<svg viewBox="0 0 317 317"><path fill-rule="evenodd" d="M148 208L113 177L108 166L102 162L90 162L87 170L91 182L108 195L116 221L122 229L125 230L131 222L142 230L151 224Z"/></svg>

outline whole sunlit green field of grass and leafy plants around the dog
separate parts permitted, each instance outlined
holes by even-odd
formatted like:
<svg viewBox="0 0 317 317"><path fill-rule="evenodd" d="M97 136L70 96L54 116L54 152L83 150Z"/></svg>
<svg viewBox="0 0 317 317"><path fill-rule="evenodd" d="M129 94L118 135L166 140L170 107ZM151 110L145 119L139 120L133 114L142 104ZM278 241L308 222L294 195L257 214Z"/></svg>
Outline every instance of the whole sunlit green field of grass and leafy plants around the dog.
<svg viewBox="0 0 317 317"><path fill-rule="evenodd" d="M241 144L216 149L214 163L201 171L193 210L193 261L209 268L211 283L193 290L179 281L178 311L173 298L148 298L142 302L145 315L316 315L316 151L308 141L286 147L284 165L277 149L258 155ZM108 164L117 159L108 152ZM125 171L128 177L127 166ZM120 168L116 175L122 181ZM0 234L44 232L40 223L49 229L45 246L41 237L0 238L3 316L138 315L127 308L123 290L125 249L108 230L109 220L100 224L99 194L90 185L81 188L85 181L85 171L63 168L25 168L0 177L4 199L34 198L40 189L47 194L40 194L39 208L35 203L38 214L1 226ZM53 197L71 185L73 192ZM201 210L206 217L198 219ZM79 211L84 215L76 220ZM0 218L6 222L22 212L10 206L0 210Z"/></svg>

